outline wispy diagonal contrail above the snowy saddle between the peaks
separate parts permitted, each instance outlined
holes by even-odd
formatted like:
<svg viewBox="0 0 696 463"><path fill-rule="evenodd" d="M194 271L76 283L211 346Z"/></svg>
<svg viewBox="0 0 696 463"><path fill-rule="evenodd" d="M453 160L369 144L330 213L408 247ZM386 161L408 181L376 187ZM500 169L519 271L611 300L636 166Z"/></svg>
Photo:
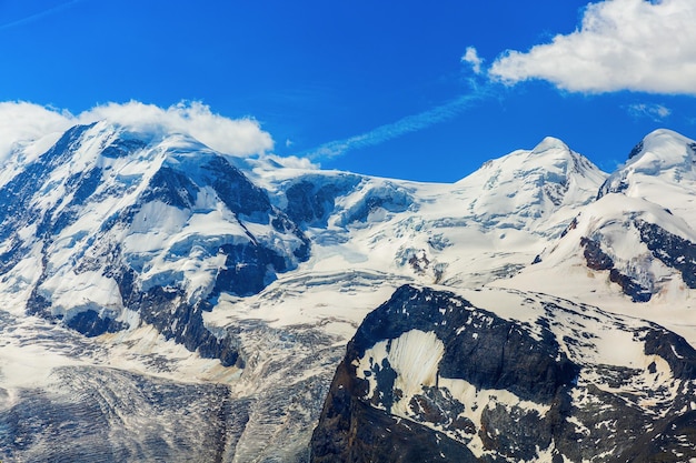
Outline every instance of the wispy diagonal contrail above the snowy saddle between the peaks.
<svg viewBox="0 0 696 463"><path fill-rule="evenodd" d="M351 150L374 147L407 133L416 132L439 122L450 120L486 95L486 90L476 89L473 93L464 94L439 107L418 114L407 115L396 122L380 125L359 135L330 141L319 148L305 151L298 155L309 158L312 161L328 160L344 155Z"/></svg>

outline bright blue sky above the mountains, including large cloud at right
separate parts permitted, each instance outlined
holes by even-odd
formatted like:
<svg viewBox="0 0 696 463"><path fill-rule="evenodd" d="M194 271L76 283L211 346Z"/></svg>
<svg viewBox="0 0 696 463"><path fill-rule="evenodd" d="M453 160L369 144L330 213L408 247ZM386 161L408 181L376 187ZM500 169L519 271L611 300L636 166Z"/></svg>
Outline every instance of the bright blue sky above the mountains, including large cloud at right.
<svg viewBox="0 0 696 463"><path fill-rule="evenodd" d="M696 138L692 0L0 0L0 101L255 118L322 168L456 181L560 138L604 170Z"/></svg>

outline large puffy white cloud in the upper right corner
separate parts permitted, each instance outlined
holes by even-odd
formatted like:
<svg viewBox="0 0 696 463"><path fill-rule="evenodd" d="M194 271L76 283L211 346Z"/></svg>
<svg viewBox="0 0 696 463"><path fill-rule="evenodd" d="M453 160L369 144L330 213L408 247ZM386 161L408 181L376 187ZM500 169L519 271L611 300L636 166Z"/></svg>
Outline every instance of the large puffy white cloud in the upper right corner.
<svg viewBox="0 0 696 463"><path fill-rule="evenodd" d="M506 51L493 79L541 79L559 89L696 95L696 1L605 0L589 4L578 30L528 52Z"/></svg>

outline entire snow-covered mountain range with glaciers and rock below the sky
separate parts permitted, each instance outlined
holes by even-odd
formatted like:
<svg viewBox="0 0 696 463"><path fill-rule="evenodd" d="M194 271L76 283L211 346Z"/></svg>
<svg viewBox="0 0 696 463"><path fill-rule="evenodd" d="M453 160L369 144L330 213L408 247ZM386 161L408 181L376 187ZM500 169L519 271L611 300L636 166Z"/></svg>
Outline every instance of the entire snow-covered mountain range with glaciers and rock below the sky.
<svg viewBox="0 0 696 463"><path fill-rule="evenodd" d="M364 446L395 420L432 461L439 442L483 461L685 454L652 443L694 423L695 145L652 133L607 175L547 138L431 184L110 120L16 144L0 171L0 459L336 461L349 439L356 461L412 461ZM489 371L494 345L519 365ZM530 384L524 369L546 363L525 349L560 379ZM509 434L517 415L545 431ZM625 449L593 455L597 439Z"/></svg>

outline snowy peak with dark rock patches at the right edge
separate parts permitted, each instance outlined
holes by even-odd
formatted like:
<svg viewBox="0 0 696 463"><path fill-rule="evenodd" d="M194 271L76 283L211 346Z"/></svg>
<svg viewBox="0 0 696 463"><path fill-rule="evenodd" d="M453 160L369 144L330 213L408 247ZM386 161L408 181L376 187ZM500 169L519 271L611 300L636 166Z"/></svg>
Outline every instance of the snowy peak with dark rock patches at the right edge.
<svg viewBox="0 0 696 463"><path fill-rule="evenodd" d="M696 142L668 130L648 134L578 210L538 263L496 284L549 291L666 323L693 308L696 261ZM560 278L559 278L560 276ZM642 302L644 308L625 303ZM687 316L688 318L688 316Z"/></svg>

